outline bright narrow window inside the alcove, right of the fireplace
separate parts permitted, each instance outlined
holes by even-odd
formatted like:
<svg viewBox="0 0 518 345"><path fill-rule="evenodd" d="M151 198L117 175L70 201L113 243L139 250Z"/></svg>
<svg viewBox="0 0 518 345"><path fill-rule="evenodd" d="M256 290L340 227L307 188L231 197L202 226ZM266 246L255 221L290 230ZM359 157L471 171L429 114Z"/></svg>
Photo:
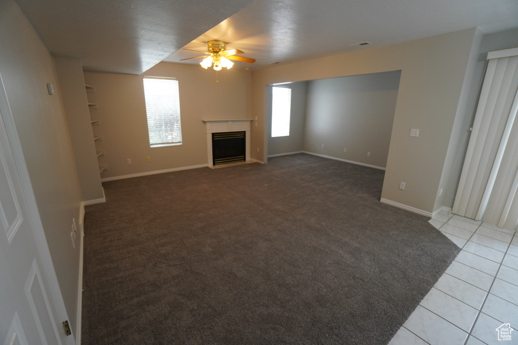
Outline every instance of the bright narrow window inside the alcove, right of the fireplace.
<svg viewBox="0 0 518 345"><path fill-rule="evenodd" d="M290 135L291 88L271 88L271 137Z"/></svg>

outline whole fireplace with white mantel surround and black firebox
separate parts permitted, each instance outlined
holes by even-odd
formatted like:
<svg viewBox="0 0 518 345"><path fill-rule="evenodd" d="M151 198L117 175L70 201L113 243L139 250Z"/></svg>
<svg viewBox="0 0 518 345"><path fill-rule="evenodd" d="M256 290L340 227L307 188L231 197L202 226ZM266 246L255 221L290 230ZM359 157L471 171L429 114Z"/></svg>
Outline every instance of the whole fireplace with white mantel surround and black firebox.
<svg viewBox="0 0 518 345"><path fill-rule="evenodd" d="M251 118L203 120L207 126L207 165L209 167L250 160L251 121ZM213 139L214 134L218 134L216 136L218 139ZM225 147L220 147L220 143Z"/></svg>

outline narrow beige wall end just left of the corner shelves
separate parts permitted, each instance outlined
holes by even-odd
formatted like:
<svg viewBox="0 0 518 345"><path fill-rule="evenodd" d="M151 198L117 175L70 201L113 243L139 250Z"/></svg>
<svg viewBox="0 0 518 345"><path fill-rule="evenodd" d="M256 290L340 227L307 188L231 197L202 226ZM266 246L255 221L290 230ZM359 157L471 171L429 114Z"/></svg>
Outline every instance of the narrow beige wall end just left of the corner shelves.
<svg viewBox="0 0 518 345"><path fill-rule="evenodd" d="M54 65L74 151L82 200L103 199L104 192L100 182L81 61L78 58L54 56Z"/></svg>

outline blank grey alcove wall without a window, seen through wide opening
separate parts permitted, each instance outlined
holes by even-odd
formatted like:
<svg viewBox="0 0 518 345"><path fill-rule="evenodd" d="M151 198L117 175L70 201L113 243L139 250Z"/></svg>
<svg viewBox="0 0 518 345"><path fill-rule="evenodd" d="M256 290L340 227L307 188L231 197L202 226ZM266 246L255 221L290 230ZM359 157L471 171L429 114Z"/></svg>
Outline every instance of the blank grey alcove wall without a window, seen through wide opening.
<svg viewBox="0 0 518 345"><path fill-rule="evenodd" d="M385 168L400 74L309 81L304 151Z"/></svg>

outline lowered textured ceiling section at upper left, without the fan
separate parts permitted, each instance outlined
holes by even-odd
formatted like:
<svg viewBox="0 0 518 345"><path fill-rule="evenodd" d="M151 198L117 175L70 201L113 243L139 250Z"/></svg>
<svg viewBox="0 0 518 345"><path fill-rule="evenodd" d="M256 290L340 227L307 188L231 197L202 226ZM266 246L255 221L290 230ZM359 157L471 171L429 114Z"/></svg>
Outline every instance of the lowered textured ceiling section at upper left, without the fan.
<svg viewBox="0 0 518 345"><path fill-rule="evenodd" d="M51 53L139 74L252 0L16 0Z"/></svg>

